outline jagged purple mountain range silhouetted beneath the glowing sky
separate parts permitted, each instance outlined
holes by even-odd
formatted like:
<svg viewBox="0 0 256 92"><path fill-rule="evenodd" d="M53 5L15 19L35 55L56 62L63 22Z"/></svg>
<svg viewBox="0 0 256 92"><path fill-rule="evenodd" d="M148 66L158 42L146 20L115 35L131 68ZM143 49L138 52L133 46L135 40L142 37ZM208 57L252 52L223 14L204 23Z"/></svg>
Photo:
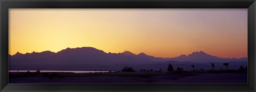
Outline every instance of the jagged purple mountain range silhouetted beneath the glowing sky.
<svg viewBox="0 0 256 92"><path fill-rule="evenodd" d="M9 55L9 65L69 65L69 64L154 64L157 62L230 62L247 61L243 58L221 58L200 52L189 55L180 55L172 58L162 58L140 53L138 55L129 51L122 53L105 53L93 47L66 48L57 53L44 51L21 54L17 52Z"/></svg>

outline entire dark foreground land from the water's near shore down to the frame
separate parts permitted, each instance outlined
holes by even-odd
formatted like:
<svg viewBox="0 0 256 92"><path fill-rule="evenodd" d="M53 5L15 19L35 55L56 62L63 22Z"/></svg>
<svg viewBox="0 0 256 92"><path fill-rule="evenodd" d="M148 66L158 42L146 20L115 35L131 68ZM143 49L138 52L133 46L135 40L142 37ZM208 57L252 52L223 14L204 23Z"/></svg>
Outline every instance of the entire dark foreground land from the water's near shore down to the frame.
<svg viewBox="0 0 256 92"><path fill-rule="evenodd" d="M247 73L10 73L9 83L247 83Z"/></svg>

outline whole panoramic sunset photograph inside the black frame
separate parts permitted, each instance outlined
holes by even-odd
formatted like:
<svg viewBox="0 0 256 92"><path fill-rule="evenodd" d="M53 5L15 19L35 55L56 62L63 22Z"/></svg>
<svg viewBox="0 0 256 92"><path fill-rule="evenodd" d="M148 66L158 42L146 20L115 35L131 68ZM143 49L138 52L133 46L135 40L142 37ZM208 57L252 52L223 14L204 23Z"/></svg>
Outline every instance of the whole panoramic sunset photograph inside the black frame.
<svg viewBox="0 0 256 92"><path fill-rule="evenodd" d="M9 83L247 83L247 9L9 9Z"/></svg>

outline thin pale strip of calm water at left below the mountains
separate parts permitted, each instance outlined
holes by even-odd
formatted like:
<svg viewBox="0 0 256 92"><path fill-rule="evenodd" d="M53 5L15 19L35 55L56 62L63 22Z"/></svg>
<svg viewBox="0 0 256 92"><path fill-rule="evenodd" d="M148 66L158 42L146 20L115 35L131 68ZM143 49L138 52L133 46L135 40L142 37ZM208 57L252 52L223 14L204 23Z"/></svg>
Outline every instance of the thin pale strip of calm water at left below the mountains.
<svg viewBox="0 0 256 92"><path fill-rule="evenodd" d="M9 72L36 72L36 70L9 70ZM74 72L74 73L94 73L94 72L109 72L109 71L58 71L58 70L40 70L40 72Z"/></svg>

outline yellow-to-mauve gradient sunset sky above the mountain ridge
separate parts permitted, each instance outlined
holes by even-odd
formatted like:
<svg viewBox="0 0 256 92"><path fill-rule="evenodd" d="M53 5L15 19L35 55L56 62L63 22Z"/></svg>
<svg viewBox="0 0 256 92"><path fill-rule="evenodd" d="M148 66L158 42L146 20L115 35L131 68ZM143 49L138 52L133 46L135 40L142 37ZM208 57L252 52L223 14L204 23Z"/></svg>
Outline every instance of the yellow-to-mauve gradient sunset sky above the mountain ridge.
<svg viewBox="0 0 256 92"><path fill-rule="evenodd" d="M247 57L247 9L9 9L9 54L95 47Z"/></svg>

